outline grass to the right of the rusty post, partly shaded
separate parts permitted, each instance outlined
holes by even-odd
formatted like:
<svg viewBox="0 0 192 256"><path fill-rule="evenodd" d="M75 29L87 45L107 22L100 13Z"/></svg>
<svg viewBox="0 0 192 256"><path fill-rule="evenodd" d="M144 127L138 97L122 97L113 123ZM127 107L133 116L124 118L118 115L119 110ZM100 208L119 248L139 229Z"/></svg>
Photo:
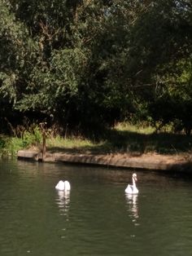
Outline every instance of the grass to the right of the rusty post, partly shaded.
<svg viewBox="0 0 192 256"><path fill-rule="evenodd" d="M168 131L167 131L168 130ZM98 142L84 138L61 137L47 139L48 149L52 152L90 152L90 153L147 153L159 154L189 153L192 148L192 136L172 134L167 130L155 133L151 126L133 126L128 123L118 124L107 130ZM51 141L51 143L50 143Z"/></svg>

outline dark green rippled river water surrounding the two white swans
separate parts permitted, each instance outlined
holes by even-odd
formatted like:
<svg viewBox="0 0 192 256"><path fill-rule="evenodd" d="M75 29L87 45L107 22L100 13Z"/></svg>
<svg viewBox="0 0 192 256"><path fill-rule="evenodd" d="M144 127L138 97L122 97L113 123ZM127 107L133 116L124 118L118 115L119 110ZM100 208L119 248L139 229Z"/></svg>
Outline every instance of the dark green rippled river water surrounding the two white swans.
<svg viewBox="0 0 192 256"><path fill-rule="evenodd" d="M0 255L192 255L192 180L137 172L129 198L132 173L0 161Z"/></svg>

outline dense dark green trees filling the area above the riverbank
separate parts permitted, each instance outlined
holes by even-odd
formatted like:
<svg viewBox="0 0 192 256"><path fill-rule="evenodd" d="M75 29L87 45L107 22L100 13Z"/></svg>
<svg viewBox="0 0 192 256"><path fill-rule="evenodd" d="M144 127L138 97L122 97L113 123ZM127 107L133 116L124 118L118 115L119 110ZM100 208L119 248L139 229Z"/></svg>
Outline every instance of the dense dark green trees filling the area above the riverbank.
<svg viewBox="0 0 192 256"><path fill-rule="evenodd" d="M192 129L190 0L0 0L0 132Z"/></svg>

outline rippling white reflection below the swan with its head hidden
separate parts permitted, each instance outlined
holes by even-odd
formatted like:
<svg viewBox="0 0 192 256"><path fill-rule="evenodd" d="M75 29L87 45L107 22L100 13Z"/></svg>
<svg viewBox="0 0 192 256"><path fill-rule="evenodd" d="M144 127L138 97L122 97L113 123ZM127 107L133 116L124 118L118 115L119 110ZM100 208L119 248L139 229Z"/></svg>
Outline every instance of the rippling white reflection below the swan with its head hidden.
<svg viewBox="0 0 192 256"><path fill-rule="evenodd" d="M59 206L59 214L67 217L68 220L68 210L70 205L70 191L58 190L58 197L56 198L56 203Z"/></svg>

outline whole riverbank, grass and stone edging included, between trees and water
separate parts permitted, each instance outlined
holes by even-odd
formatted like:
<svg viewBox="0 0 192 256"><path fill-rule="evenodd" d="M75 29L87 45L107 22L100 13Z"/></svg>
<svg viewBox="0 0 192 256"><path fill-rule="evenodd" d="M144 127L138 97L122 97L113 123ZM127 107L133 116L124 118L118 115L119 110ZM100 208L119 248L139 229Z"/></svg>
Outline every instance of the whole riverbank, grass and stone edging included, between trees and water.
<svg viewBox="0 0 192 256"><path fill-rule="evenodd" d="M125 126L126 125L126 126ZM44 141L44 143L43 143ZM69 162L142 170L180 170L192 174L192 135L155 132L149 126L121 124L100 139L25 130L22 136L0 136L2 155L35 161ZM30 148L30 149L26 149ZM46 156L41 151L46 150ZM43 159L42 159L43 158Z"/></svg>

